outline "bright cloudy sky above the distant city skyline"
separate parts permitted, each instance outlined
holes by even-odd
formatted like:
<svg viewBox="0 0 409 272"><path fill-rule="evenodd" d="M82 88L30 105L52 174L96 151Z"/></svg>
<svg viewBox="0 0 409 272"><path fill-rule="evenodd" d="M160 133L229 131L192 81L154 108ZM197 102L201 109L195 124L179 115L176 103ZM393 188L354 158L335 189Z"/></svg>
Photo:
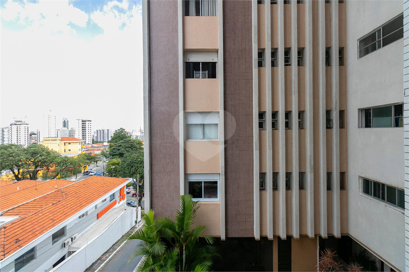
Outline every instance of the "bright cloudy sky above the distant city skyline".
<svg viewBox="0 0 409 272"><path fill-rule="evenodd" d="M141 0L2 0L0 125L143 129Z"/></svg>

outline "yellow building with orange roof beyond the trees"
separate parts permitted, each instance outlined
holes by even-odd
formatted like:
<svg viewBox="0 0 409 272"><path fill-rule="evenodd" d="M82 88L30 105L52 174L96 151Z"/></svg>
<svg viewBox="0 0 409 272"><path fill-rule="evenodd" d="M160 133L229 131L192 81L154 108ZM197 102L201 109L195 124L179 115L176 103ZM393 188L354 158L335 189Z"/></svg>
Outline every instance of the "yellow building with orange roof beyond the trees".
<svg viewBox="0 0 409 272"><path fill-rule="evenodd" d="M45 137L40 144L69 157L84 153L84 140L74 137Z"/></svg>

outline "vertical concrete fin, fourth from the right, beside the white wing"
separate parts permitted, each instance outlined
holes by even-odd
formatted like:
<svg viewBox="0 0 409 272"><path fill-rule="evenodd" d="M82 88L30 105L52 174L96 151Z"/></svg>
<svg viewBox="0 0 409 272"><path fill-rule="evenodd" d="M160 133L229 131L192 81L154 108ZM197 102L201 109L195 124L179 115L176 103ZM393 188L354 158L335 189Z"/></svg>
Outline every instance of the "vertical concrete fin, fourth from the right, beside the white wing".
<svg viewBox="0 0 409 272"><path fill-rule="evenodd" d="M291 82L292 82L292 136L293 136L293 169L291 180L291 206L292 206L292 235L300 237L299 226L299 152L298 152L298 32L297 32L297 1L291 1Z"/></svg>

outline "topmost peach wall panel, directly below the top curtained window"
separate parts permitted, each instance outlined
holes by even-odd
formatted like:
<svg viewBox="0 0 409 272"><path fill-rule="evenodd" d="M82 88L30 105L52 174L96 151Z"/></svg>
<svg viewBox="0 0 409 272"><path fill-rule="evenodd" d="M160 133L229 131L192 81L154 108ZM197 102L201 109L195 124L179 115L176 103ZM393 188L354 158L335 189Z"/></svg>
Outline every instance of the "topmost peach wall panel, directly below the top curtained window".
<svg viewBox="0 0 409 272"><path fill-rule="evenodd" d="M184 49L219 48L218 16L183 16L183 32Z"/></svg>

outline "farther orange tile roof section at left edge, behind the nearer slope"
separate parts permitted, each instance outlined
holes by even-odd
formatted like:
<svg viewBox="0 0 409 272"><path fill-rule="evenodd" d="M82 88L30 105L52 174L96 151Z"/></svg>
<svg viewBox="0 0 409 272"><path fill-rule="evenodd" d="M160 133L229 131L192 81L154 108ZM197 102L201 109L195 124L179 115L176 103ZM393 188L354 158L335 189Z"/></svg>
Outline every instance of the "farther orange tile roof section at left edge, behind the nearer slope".
<svg viewBox="0 0 409 272"><path fill-rule="evenodd" d="M0 187L0 211L14 207L21 203L32 200L36 197L53 192L56 188L61 188L74 183L71 180L21 180L20 182L8 182L8 185Z"/></svg>

